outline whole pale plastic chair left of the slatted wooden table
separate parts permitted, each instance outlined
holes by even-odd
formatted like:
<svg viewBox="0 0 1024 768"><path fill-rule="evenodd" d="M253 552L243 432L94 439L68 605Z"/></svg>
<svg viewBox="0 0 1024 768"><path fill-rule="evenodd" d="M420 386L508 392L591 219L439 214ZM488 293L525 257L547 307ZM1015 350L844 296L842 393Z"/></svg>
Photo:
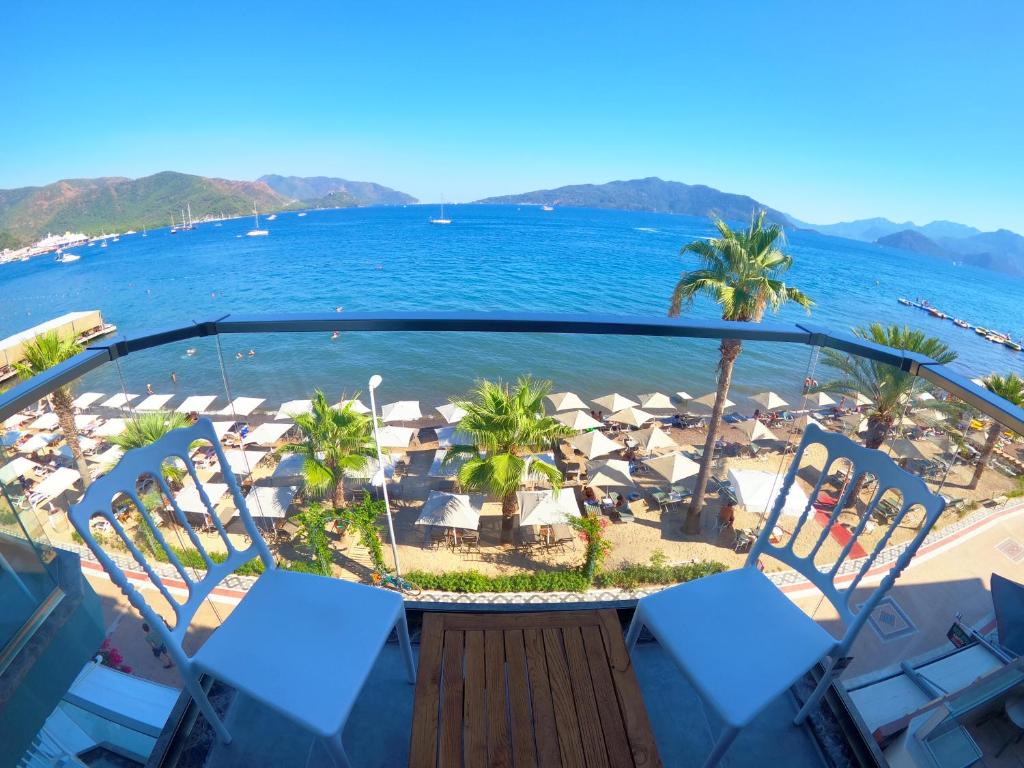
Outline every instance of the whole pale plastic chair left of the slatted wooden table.
<svg viewBox="0 0 1024 768"><path fill-rule="evenodd" d="M224 481L230 488L251 539L244 550L232 546L196 474L188 451L196 440L208 441L217 453ZM161 466L170 458L184 464L199 488L210 519L227 548L227 559L223 562L216 563L210 558L174 501L174 495L161 472ZM206 562L205 574L182 565L168 546L163 532L137 496L136 483L141 475L155 477L164 495L171 500L178 524ZM146 556L118 521L112 502L121 495L134 502L157 543L167 553L177 575L187 586L187 599L183 602L168 590ZM90 519L95 516L100 516L114 528L172 606L175 613L173 629L164 624L102 546L97 544L89 526ZM375 587L276 568L246 508L238 482L227 468L223 450L209 419L200 419L196 425L176 429L151 445L129 451L109 474L90 485L85 497L71 508L69 517L111 580L121 588L150 626L161 634L188 692L225 743L230 741L231 736L200 683L200 675L204 673L327 739L336 762L345 767L350 763L342 745L342 728L392 629L398 634L410 682L415 682L416 668L401 596ZM200 604L222 579L256 557L263 561L265 570L262 575L202 647L187 656L182 649L182 641ZM197 575L201 578L197 580Z"/></svg>

